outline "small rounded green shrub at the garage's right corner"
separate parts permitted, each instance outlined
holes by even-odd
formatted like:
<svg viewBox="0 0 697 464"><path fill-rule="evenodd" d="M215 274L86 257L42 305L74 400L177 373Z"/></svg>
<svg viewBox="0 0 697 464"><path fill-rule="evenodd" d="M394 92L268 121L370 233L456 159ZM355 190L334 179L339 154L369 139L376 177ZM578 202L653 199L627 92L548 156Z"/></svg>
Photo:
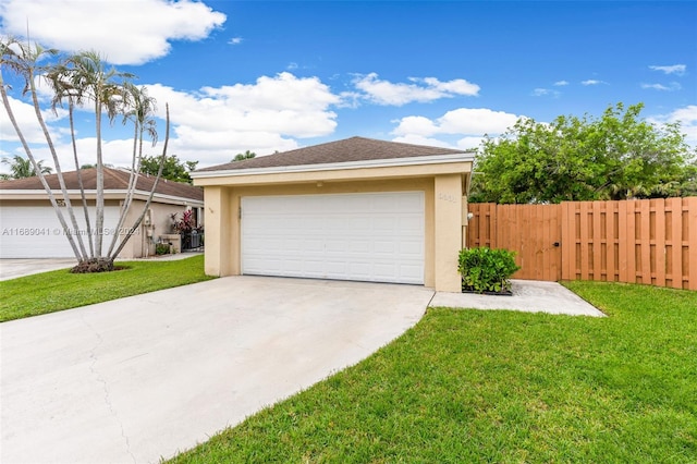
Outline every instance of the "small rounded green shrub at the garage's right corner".
<svg viewBox="0 0 697 464"><path fill-rule="evenodd" d="M462 276L462 289L484 292L511 291L511 276L521 269L515 264L515 253L487 247L464 248L460 252L457 271Z"/></svg>

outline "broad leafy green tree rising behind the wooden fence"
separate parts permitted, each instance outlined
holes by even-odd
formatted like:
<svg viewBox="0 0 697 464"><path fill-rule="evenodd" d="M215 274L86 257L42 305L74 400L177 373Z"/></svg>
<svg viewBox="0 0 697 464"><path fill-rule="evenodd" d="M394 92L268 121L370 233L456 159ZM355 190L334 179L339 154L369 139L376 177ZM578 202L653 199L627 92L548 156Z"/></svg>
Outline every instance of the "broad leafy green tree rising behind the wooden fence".
<svg viewBox="0 0 697 464"><path fill-rule="evenodd" d="M687 195L695 150L680 124L653 125L643 105L610 106L601 118L519 119L487 137L475 161L472 202L560 203ZM692 174L690 174L692 173Z"/></svg>

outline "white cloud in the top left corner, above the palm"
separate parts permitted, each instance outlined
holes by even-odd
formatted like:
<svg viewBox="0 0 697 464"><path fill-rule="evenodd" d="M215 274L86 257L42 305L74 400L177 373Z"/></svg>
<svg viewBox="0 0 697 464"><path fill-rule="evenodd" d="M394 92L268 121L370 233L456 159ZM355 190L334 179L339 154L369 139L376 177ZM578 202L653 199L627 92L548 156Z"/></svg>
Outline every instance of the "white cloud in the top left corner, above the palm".
<svg viewBox="0 0 697 464"><path fill-rule="evenodd" d="M45 46L77 51L88 45L113 64L161 58L171 40L201 40L225 22L223 13L192 0L4 0L0 15L4 34L24 36L28 24Z"/></svg>

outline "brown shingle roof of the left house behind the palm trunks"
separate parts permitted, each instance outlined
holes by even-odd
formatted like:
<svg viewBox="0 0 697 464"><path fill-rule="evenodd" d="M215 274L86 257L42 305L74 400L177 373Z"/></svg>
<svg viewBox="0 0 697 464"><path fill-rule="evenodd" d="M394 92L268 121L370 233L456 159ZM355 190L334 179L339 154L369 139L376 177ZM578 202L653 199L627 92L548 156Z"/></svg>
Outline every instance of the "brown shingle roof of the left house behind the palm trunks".
<svg viewBox="0 0 697 464"><path fill-rule="evenodd" d="M83 169L80 171L83 178L83 185L86 191L95 191L97 188L97 169ZM129 187L130 172L119 169L105 168L105 191L123 191ZM68 190L76 191L80 188L77 183L76 171L63 172L65 186ZM58 174L46 175L46 181L53 191L60 191L58 183ZM140 174L136 183L136 190L142 192L150 192L155 183L154 176ZM15 179L10 181L0 181L0 191L42 191L44 186L39 178ZM179 198L204 200L204 191L200 187L184 184L181 182L172 182L160 179L156 193L160 195L169 195Z"/></svg>

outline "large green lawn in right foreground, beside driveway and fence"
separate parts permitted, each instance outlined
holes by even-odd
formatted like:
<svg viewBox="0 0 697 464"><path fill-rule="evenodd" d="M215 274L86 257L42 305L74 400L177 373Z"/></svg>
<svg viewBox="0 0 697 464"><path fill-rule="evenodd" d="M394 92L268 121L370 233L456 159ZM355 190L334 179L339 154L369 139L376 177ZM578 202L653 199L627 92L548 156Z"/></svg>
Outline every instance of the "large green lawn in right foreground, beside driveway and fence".
<svg viewBox="0 0 697 464"><path fill-rule="evenodd" d="M172 462L697 462L697 292L567 286L609 317L429 309Z"/></svg>

